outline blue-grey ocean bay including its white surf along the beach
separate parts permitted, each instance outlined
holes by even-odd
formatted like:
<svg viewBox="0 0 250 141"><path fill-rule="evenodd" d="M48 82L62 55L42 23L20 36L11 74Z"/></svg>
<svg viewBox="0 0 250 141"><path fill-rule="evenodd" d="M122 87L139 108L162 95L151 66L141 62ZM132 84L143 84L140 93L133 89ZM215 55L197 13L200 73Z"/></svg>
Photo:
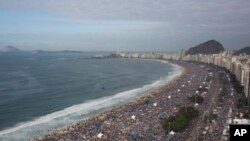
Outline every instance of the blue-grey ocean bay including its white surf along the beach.
<svg viewBox="0 0 250 141"><path fill-rule="evenodd" d="M0 140L29 140L131 101L181 73L108 52L0 54Z"/></svg>

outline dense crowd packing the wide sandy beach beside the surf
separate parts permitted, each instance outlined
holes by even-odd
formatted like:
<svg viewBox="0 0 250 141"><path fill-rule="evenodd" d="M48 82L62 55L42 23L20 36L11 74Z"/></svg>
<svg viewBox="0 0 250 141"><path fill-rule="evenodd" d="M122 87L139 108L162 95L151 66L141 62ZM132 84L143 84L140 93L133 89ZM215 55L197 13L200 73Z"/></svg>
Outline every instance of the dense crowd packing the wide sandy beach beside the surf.
<svg viewBox="0 0 250 141"><path fill-rule="evenodd" d="M42 140L185 140L190 137L192 124L189 129L181 133L171 132L167 135L162 128L162 122L170 115L174 115L178 109L186 106L196 106L199 111L205 111L211 99L213 89L218 87L217 83L207 81L209 67L195 63L173 62L183 69L180 77L170 81L154 91L150 91L144 96L135 99L133 102L114 107L113 109L100 113L98 116L81 121L75 125L50 132L46 135L35 138L36 141ZM214 71L216 75L216 71ZM206 86L208 90L202 92L205 101L201 105L191 102L188 97L199 93L197 89ZM213 107L214 108L214 107ZM224 108L224 106L223 106ZM199 131L200 137L207 140L217 140L217 134L221 137L225 120L224 114L228 112L225 106L219 111L217 123L211 125L201 124L202 130ZM195 122L195 121L193 121ZM202 134L203 129L209 126L212 130L209 134ZM203 128L204 127L204 128ZM218 131L217 131L218 130ZM216 136L216 137L213 137Z"/></svg>

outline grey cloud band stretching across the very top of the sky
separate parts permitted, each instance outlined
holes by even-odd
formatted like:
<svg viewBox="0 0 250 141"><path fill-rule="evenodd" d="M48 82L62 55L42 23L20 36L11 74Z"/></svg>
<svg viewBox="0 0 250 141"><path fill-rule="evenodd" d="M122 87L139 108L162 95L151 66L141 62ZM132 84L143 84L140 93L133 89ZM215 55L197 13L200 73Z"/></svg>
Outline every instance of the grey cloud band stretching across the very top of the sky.
<svg viewBox="0 0 250 141"><path fill-rule="evenodd" d="M0 0L0 5L96 20L222 22L250 13L248 0Z"/></svg>

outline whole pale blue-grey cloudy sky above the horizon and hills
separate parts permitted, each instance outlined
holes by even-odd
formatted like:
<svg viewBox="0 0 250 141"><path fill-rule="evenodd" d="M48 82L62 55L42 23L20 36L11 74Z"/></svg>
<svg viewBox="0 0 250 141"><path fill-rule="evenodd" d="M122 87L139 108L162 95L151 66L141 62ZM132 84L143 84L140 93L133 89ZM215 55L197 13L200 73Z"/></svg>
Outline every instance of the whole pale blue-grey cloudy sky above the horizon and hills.
<svg viewBox="0 0 250 141"><path fill-rule="evenodd" d="M250 46L249 0L0 0L0 48L178 51Z"/></svg>

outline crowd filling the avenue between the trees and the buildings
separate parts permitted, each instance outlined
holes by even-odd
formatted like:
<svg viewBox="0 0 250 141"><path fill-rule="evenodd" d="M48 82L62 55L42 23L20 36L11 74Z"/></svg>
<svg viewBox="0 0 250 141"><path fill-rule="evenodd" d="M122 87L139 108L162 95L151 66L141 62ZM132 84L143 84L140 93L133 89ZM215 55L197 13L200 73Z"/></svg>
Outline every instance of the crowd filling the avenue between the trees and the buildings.
<svg viewBox="0 0 250 141"><path fill-rule="evenodd" d="M192 121L184 132L172 140L229 140L229 121L237 115L236 102L241 95L236 93L232 83L230 83L229 75L224 71L213 68L212 74L213 79L210 83L212 85L210 85L207 94L204 95L206 100L197 107L201 111L199 118ZM224 92L222 92L223 84L219 80L219 75L227 77L228 83L226 86L224 84Z"/></svg>

